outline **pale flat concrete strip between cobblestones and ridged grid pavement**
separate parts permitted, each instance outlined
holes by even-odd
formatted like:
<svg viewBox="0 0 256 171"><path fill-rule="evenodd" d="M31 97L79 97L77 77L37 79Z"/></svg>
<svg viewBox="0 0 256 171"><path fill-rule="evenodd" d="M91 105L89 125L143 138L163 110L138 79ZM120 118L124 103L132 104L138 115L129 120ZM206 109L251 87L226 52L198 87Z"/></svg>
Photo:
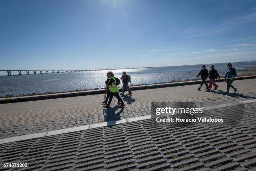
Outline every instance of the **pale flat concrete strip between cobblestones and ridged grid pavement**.
<svg viewBox="0 0 256 171"><path fill-rule="evenodd" d="M215 108L236 106L238 104L247 104L247 103L253 103L253 102L256 102L256 99L245 100L245 101L241 101L241 102L226 103L226 104L215 105L215 106L211 106L211 107L204 107L203 110L204 111L212 110ZM96 124L84 125L84 126L73 127L73 128L65 128L65 129L60 129L60 130L51 130L51 131L42 132L42 133L35 133L35 134L21 135L21 136L10 137L10 138L3 138L3 139L0 139L0 144L12 143L12 142L21 141L21 140L29 140L29 139L34 139L34 138L42 138L42 137L59 135L59 134L64 134L64 133L72 133L72 132L77 132L77 131L81 131L81 130L89 130L89 129L100 128L100 127L105 127L105 126L113 126L113 125L118 125L121 123L129 123L129 122L134 122L134 121L138 121L138 120L147 120L147 119L151 119L151 115L131 117L131 118L127 118L127 119L113 120L113 121L104 122L104 123L96 123Z"/></svg>

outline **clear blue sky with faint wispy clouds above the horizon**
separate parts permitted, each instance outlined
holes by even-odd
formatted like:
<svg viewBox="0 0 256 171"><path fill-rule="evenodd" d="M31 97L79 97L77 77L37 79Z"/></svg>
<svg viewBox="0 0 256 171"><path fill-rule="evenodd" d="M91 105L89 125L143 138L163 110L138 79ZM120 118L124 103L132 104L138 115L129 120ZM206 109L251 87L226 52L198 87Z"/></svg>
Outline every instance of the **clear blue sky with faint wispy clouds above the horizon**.
<svg viewBox="0 0 256 171"><path fill-rule="evenodd" d="M0 69L255 59L255 0L0 0Z"/></svg>

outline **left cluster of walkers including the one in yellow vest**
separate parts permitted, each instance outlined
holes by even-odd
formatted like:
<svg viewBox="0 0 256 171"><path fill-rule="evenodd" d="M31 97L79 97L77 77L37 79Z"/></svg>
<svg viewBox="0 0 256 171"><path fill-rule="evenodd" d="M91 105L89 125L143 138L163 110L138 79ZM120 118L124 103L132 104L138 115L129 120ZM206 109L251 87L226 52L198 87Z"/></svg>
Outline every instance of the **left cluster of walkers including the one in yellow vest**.
<svg viewBox="0 0 256 171"><path fill-rule="evenodd" d="M122 83L123 83L123 88L122 92L120 93L121 96L124 95L125 90L128 90L128 95L132 95L131 89L128 86L129 82L131 82L131 77L126 74L125 71L123 71L122 76L120 77ZM105 104L105 108L109 108L113 99L113 96L115 96L118 99L117 104L121 104L119 107L122 108L124 107L124 102L122 98L119 96L118 92L118 85L120 84L120 79L115 77L115 74L112 71L109 71L107 73L107 80L105 81L106 87L105 87L105 96L104 96L104 101L103 103Z"/></svg>

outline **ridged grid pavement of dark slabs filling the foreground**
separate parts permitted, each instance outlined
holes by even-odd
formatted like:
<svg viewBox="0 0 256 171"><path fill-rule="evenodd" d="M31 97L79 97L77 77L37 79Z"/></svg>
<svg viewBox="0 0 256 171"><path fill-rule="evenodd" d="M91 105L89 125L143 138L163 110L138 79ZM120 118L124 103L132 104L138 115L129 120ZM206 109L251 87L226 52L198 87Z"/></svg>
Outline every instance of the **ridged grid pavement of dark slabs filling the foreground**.
<svg viewBox="0 0 256 171"><path fill-rule="evenodd" d="M28 168L17 171L253 171L255 103L246 109L236 127L215 123L171 127L141 120L3 144L0 163L28 163ZM225 115L225 110L214 113Z"/></svg>

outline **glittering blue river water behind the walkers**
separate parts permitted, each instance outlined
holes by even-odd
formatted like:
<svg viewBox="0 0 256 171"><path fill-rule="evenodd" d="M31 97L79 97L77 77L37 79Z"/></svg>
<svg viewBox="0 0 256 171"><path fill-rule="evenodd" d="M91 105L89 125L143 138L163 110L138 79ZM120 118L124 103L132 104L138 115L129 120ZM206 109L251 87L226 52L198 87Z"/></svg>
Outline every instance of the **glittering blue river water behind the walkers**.
<svg viewBox="0 0 256 171"><path fill-rule="evenodd" d="M225 76L227 64L214 65L220 76ZM209 70L210 64L206 66ZM238 74L242 74L249 67L256 67L256 62L237 62L233 63L233 67L236 68ZM130 84L154 84L172 82L172 80L195 79L200 69L201 64L125 69L125 71L131 75L132 82ZM113 70L115 77L120 78L122 71L123 69ZM106 73L105 70L1 76L0 96L103 88L105 87Z"/></svg>

